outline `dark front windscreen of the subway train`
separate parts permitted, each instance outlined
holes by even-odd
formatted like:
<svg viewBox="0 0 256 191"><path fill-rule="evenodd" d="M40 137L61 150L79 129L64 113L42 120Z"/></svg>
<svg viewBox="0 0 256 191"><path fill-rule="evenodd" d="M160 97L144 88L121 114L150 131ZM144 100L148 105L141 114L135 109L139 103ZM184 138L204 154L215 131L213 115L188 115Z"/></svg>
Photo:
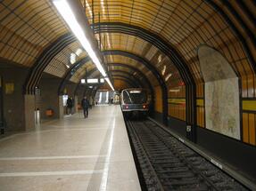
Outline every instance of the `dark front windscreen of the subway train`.
<svg viewBox="0 0 256 191"><path fill-rule="evenodd" d="M143 104L147 101L147 94L145 91L124 91L123 100L126 104Z"/></svg>

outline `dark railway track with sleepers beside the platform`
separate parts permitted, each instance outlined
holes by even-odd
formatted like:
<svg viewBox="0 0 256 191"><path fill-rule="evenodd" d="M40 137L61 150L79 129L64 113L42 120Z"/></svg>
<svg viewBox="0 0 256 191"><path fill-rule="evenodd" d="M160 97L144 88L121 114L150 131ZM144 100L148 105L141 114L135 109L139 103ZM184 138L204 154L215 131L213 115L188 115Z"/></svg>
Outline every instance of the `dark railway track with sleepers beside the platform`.
<svg viewBox="0 0 256 191"><path fill-rule="evenodd" d="M248 190L152 121L127 128L145 190Z"/></svg>

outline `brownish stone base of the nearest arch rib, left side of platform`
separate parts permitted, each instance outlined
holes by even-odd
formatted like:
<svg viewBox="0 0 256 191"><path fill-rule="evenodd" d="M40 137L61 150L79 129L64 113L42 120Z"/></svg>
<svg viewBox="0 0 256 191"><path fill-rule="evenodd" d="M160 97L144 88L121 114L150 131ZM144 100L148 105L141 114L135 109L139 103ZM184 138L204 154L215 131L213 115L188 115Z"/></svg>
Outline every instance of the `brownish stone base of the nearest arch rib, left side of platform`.
<svg viewBox="0 0 256 191"><path fill-rule="evenodd" d="M35 122L35 95L24 95L25 130L34 129Z"/></svg>

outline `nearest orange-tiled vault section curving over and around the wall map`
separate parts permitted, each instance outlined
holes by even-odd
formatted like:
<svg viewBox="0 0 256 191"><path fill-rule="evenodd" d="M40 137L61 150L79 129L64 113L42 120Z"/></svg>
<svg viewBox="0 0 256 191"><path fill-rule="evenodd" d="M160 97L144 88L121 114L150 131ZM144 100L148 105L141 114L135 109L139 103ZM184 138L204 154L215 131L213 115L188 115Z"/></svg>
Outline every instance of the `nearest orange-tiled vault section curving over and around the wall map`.
<svg viewBox="0 0 256 191"><path fill-rule="evenodd" d="M157 2L160 1L136 1L137 6L133 8L127 7L127 5L122 4L121 1L116 1L115 6L106 3L108 6L108 14L105 15L106 18L101 17L100 20L96 19L95 22L123 22L135 25L152 31L158 34L158 36L162 36L167 42L175 44L178 51L181 52L186 59L188 67L193 73L196 84L198 85L198 97L203 96L203 81L195 49L202 43L207 43L219 49L227 57L236 72L239 73L240 76L244 76L244 78L242 78L244 84L247 83L245 79L246 75L251 76L252 84L255 82L253 76L255 74L254 63L256 62L255 59L252 60L253 55L256 55L255 48L251 48L250 51L250 47L248 48L246 41L241 40L241 37L245 36L245 40L247 40L248 43L248 39L246 39L247 35L243 32L243 28L240 28L239 31L237 29L238 22L235 22L235 19L230 20L231 18L229 18L232 17L232 14L227 14L227 12L223 11L226 7L222 6L220 7L221 9L216 9L213 6L220 1L208 0L203 2L201 0L191 0L180 1L178 4L174 4L171 1L163 1L165 5L161 7L161 12L156 12L156 9L153 9L153 6L158 4ZM240 1L236 2L237 1L231 3L233 5L239 5ZM152 10L150 13L147 12L150 9L148 4L154 4L151 5ZM173 4L173 9L169 9L171 4ZM117 9L117 7L120 9ZM147 8L145 9L145 7ZM95 7L95 11L99 11L102 14L101 9L101 7ZM120 12L120 10L122 10L122 12ZM126 14L123 12L126 12ZM188 17L187 15L190 16ZM89 15L87 16L90 18ZM144 22L140 21L138 23L136 22L136 18ZM147 18L148 20L146 20ZM177 18L177 20L175 20L175 18ZM155 20L159 21L157 25ZM162 20L165 21L164 27L161 26ZM235 23L236 26L232 22ZM145 23L148 23L148 25ZM173 33L175 33L175 36L172 35ZM256 92L251 93L249 87L243 86L243 89L244 92L247 92L244 94L244 97L256 96Z"/></svg>

